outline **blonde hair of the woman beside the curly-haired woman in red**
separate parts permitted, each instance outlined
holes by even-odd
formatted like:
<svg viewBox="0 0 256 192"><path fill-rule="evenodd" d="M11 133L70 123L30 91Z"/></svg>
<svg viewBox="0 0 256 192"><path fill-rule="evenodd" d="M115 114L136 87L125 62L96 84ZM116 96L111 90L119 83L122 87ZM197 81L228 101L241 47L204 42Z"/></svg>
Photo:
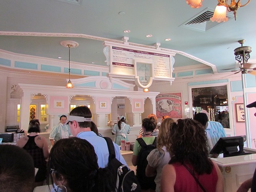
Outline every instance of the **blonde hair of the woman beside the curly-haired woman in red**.
<svg viewBox="0 0 256 192"><path fill-rule="evenodd" d="M162 121L158 133L158 138L157 138L157 148L159 151L163 151L162 147L166 146L168 147L168 132L170 130L170 125L174 123L175 121L172 118L166 118ZM167 148L168 151L168 148Z"/></svg>

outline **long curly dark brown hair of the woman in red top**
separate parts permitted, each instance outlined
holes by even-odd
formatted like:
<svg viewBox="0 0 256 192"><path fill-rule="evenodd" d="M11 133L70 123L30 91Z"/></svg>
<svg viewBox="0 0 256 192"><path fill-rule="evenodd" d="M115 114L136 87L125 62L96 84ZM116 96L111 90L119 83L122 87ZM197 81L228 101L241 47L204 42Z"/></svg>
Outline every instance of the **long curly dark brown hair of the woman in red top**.
<svg viewBox="0 0 256 192"><path fill-rule="evenodd" d="M210 174L212 163L208 158L208 142L204 127L193 119L179 119L168 132L169 164L189 163L198 175Z"/></svg>

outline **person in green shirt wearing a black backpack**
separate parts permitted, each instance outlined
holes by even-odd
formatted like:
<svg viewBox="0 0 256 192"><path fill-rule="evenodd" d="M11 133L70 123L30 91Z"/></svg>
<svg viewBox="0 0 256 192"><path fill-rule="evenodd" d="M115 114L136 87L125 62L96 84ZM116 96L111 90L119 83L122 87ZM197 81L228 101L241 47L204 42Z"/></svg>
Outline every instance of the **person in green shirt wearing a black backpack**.
<svg viewBox="0 0 256 192"><path fill-rule="evenodd" d="M137 177L141 186L141 191L155 191L156 183L154 177L146 177L145 170L147 166L147 155L156 148L156 137L152 136L155 124L150 119L142 120L142 131L144 136L138 138L134 143L132 163L137 166ZM144 146L142 146L144 145Z"/></svg>

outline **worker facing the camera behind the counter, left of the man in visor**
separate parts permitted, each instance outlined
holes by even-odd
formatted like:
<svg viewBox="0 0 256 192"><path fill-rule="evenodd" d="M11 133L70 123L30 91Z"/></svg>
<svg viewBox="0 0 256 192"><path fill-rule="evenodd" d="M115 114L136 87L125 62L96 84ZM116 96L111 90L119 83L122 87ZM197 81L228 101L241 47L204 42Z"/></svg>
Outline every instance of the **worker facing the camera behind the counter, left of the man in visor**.
<svg viewBox="0 0 256 192"><path fill-rule="evenodd" d="M72 137L70 127L68 124L66 124L66 121L67 121L67 116L61 115L59 117L59 123L52 128L49 136L52 146L59 139Z"/></svg>

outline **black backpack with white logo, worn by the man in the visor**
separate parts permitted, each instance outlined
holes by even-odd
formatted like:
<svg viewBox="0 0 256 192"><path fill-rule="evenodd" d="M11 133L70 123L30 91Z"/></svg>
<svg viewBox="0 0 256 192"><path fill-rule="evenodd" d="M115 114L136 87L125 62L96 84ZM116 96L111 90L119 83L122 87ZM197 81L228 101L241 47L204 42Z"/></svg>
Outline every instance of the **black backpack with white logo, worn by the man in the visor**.
<svg viewBox="0 0 256 192"><path fill-rule="evenodd" d="M109 148L109 163L108 168L115 176L116 190L115 192L126 192L126 191L141 191L139 181L134 174L133 170L122 164L116 159L115 147L113 141L109 137L104 137Z"/></svg>

